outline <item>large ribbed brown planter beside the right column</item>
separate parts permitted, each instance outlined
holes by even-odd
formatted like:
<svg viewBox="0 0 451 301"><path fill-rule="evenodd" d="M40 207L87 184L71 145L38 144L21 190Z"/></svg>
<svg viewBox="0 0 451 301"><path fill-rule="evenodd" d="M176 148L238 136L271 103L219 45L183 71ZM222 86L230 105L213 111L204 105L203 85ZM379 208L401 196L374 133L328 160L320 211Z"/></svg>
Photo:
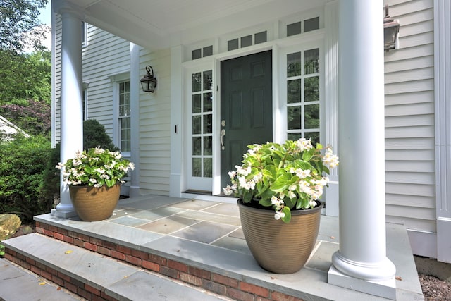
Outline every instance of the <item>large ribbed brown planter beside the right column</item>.
<svg viewBox="0 0 451 301"><path fill-rule="evenodd" d="M258 264L277 274L292 274L307 262L318 237L321 206L292 210L290 223L274 219L274 211L237 201L242 231Z"/></svg>

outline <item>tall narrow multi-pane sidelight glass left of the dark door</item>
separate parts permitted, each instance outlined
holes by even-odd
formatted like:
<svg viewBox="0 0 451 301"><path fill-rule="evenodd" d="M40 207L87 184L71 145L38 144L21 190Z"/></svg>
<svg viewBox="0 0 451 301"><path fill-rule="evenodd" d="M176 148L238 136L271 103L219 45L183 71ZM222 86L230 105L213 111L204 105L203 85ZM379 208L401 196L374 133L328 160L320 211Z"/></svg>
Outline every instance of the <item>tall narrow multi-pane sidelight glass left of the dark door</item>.
<svg viewBox="0 0 451 301"><path fill-rule="evenodd" d="M192 177L213 176L212 70L192 74Z"/></svg>

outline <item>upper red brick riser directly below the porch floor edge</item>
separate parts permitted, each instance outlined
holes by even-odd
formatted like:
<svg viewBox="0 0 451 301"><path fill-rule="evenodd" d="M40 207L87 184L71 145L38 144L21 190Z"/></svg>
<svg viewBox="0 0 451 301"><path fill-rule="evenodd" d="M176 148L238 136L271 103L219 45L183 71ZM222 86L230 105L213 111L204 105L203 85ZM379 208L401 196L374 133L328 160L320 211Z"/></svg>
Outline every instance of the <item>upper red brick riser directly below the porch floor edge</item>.
<svg viewBox="0 0 451 301"><path fill-rule="evenodd" d="M47 235L56 240L67 242L70 245L82 247L86 250L97 252L104 256L108 256L113 259L138 266L142 269L147 269L148 271L153 271L163 276L168 276L170 278L173 278L175 281L181 281L183 283L187 283L188 285L193 285L198 288L203 288L204 290L209 290L212 293L223 295L234 300L302 301L302 299L278 292L276 290L269 290L268 288L264 288L259 285L254 285L252 283L240 281L235 278L216 274L213 271L199 269L195 266L177 262L173 259L161 257L156 254L149 254L147 252L135 250L123 245L117 245L113 242L108 242L99 238L93 238L88 235L76 233L74 231L68 231L66 229L51 226L39 221L36 222L36 232L42 235ZM46 278L43 275L41 276ZM48 279L51 280L51 278ZM58 283L58 285L60 284ZM70 288L68 289L70 290Z"/></svg>

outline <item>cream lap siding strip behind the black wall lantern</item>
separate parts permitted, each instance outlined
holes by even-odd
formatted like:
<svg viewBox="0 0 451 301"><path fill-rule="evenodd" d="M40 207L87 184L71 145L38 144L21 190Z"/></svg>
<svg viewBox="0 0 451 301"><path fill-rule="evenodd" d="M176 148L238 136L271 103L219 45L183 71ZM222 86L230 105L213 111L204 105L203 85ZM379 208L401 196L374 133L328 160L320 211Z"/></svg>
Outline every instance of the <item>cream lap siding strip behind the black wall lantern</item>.
<svg viewBox="0 0 451 301"><path fill-rule="evenodd" d="M154 70L154 93L140 92L140 189L141 193L169 195L171 173L171 51L140 52L140 76L144 66Z"/></svg>

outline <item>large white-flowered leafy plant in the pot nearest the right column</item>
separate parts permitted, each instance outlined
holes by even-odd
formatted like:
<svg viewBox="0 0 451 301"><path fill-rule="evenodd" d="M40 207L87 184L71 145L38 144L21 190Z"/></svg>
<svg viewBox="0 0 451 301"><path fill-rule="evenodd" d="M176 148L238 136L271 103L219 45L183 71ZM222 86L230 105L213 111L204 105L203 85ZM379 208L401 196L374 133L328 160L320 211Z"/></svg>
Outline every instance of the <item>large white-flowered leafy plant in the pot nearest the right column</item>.
<svg viewBox="0 0 451 301"><path fill-rule="evenodd" d="M248 145L242 166L229 171L232 185L223 188L226 195L235 194L243 203L254 207L272 207L275 219L290 222L291 209L309 209L328 185L329 168L338 166L338 156L331 147L301 138L287 140L283 145L267 142L266 145Z"/></svg>

